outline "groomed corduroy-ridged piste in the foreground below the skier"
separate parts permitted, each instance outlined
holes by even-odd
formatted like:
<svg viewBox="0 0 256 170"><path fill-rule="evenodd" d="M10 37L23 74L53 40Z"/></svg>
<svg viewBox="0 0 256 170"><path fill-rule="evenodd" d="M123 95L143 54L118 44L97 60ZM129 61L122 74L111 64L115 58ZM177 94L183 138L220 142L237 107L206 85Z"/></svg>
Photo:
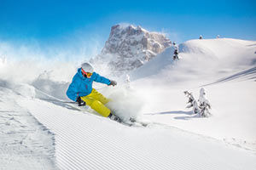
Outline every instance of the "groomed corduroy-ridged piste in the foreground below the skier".
<svg viewBox="0 0 256 170"><path fill-rule="evenodd" d="M55 133L56 162L61 169L242 169L178 136L169 141L166 130L126 127L45 101L23 102Z"/></svg>

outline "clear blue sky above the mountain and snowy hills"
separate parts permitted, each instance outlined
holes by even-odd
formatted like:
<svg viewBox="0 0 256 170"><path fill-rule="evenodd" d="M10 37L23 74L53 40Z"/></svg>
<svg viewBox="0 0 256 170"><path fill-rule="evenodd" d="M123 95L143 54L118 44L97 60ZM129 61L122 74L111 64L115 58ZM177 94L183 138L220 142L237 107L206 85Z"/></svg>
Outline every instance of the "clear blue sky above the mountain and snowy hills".
<svg viewBox="0 0 256 170"><path fill-rule="evenodd" d="M165 32L177 42L200 35L256 40L256 1L0 0L0 23L1 41L42 45L96 39L103 46L118 23Z"/></svg>

